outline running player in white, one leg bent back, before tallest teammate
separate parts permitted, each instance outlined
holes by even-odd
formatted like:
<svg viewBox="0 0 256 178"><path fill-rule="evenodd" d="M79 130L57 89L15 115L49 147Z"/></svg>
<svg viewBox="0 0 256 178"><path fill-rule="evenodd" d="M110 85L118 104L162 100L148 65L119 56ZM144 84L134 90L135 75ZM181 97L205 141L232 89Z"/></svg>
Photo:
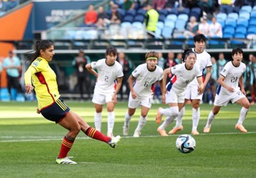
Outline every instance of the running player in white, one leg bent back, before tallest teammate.
<svg viewBox="0 0 256 178"><path fill-rule="evenodd" d="M200 66L195 64L197 61L196 53L191 49L187 49L184 51L182 58L184 59L184 63L164 70L163 88L165 88L167 75L169 73L172 74L172 78L169 83L167 83L164 90L166 103L169 103L169 108L158 108L156 117L156 122L159 124L162 120L162 115L168 116L162 125L157 128L157 132L162 136L168 136L167 132L164 130L165 127L172 123L182 109L184 104L184 92L187 85L197 78L197 82L199 83L198 93L202 93L204 88L202 83L202 71L200 70Z"/></svg>

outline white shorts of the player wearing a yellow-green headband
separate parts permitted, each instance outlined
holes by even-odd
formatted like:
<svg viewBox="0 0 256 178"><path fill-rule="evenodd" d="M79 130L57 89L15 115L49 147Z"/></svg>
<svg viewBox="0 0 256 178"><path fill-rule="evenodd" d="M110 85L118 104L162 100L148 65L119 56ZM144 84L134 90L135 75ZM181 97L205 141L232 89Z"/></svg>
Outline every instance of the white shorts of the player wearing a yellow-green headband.
<svg viewBox="0 0 256 178"><path fill-rule="evenodd" d="M154 95L149 95L149 97L144 98L132 98L132 94L129 94L129 101L128 101L128 107L129 108L139 108L141 105L143 105L146 108L151 108L152 100Z"/></svg>

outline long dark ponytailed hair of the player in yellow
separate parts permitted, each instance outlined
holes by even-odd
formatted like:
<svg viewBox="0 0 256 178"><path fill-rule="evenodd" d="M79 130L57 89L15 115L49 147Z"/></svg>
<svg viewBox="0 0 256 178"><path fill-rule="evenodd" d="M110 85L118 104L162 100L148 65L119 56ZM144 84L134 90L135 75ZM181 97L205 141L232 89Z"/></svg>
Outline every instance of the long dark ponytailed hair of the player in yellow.
<svg viewBox="0 0 256 178"><path fill-rule="evenodd" d="M47 40L36 41L36 49L34 51L29 52L32 54L29 55L26 61L29 61L29 65L30 65L31 63L33 63L33 61L36 58L40 56L40 50L45 51L47 48L50 48L51 46L53 46L53 43L51 43L51 41L47 41Z"/></svg>

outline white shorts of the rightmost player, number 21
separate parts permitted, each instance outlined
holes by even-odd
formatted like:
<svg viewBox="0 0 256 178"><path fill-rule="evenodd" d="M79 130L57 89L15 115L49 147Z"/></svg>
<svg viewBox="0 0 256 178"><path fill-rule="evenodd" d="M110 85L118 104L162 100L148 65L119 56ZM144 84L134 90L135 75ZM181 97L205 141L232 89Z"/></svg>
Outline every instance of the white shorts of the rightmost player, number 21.
<svg viewBox="0 0 256 178"><path fill-rule="evenodd" d="M227 103L229 103L230 101L232 103L235 103L237 100L240 100L241 98L244 98L245 95L242 94L242 92L236 91L227 95L216 95L215 96L215 103L214 105L216 106L227 106Z"/></svg>

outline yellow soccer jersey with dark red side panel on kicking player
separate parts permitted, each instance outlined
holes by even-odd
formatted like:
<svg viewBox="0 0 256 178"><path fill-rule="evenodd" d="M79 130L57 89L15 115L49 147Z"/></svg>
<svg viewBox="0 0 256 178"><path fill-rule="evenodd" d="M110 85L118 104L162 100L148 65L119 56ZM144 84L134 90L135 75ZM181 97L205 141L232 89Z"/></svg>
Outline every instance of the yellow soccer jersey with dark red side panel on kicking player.
<svg viewBox="0 0 256 178"><path fill-rule="evenodd" d="M36 58L24 75L25 84L34 85L39 110L51 105L59 98L56 74L44 58Z"/></svg>

